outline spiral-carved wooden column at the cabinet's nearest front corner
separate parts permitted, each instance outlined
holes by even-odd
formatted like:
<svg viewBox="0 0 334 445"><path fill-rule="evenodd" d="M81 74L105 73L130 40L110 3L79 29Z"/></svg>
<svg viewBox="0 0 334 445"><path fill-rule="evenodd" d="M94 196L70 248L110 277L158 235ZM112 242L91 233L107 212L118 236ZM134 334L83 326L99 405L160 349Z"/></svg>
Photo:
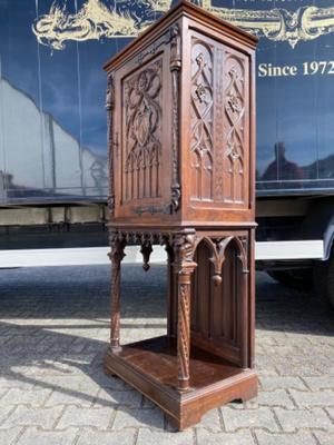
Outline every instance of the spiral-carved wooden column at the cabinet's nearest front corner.
<svg viewBox="0 0 334 445"><path fill-rule="evenodd" d="M189 389L190 356L190 285L194 263L195 235L178 235L175 238L175 267L178 275L178 322L177 322L177 358L178 389Z"/></svg>

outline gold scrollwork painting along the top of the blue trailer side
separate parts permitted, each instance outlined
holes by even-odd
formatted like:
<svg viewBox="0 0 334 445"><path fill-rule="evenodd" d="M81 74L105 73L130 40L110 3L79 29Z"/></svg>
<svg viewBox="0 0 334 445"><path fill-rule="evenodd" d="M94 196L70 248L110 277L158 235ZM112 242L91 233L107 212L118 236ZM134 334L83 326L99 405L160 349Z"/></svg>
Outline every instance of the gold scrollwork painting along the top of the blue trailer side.
<svg viewBox="0 0 334 445"><path fill-rule="evenodd" d="M229 9L213 6L212 0L196 1L220 19L257 37L288 42L314 40L334 31L334 7L303 6L295 11L284 8L268 10ZM67 3L56 0L49 13L37 18L32 26L38 41L61 50L66 41L136 37L166 12L171 0L118 0L108 4L102 0L87 0L75 13Z"/></svg>

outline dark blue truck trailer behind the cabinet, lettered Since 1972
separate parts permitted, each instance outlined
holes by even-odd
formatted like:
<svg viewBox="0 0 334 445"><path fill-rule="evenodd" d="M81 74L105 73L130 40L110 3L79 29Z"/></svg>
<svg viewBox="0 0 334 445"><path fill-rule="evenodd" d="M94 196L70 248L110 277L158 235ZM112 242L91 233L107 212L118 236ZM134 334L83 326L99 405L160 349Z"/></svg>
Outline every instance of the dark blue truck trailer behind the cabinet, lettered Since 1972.
<svg viewBox="0 0 334 445"><path fill-rule="evenodd" d="M334 305L334 4L194 2L259 37L257 267ZM0 0L0 267L106 257L101 67L173 3Z"/></svg>

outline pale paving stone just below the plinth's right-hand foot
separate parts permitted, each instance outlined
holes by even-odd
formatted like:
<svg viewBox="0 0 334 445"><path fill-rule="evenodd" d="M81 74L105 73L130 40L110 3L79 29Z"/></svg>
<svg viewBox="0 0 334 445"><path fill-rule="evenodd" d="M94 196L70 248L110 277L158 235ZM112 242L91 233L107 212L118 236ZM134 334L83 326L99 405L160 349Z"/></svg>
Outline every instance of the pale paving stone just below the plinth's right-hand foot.
<svg viewBox="0 0 334 445"><path fill-rule="evenodd" d="M222 413L227 432L238 428L266 428L271 432L279 429L274 414L268 407L236 411L226 406L222 408Z"/></svg>

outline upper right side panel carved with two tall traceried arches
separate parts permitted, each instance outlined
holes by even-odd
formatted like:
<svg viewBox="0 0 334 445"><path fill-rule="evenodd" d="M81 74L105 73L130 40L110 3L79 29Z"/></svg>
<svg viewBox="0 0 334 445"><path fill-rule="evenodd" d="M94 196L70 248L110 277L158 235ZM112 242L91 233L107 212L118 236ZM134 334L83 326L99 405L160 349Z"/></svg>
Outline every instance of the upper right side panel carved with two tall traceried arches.
<svg viewBox="0 0 334 445"><path fill-rule="evenodd" d="M249 207L249 58L191 32L193 207Z"/></svg>

